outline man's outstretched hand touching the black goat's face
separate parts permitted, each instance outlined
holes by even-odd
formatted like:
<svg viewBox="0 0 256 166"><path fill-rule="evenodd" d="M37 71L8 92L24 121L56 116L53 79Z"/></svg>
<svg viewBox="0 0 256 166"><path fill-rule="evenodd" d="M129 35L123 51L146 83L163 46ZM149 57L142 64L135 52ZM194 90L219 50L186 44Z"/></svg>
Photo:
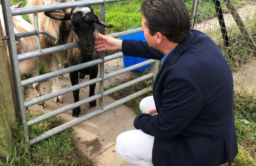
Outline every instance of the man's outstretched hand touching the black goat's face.
<svg viewBox="0 0 256 166"><path fill-rule="evenodd" d="M122 40L98 33L98 36L95 38L94 49L96 49L98 52L104 50L122 49Z"/></svg>

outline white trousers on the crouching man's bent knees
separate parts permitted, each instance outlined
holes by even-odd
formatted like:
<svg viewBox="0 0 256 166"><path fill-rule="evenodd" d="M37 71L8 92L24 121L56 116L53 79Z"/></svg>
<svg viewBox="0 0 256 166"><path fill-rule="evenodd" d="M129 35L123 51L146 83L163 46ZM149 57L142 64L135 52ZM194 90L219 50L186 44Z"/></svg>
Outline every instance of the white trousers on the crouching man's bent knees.
<svg viewBox="0 0 256 166"><path fill-rule="evenodd" d="M155 109L153 96L145 97L140 102L142 113ZM154 136L148 135L142 130L130 130L121 133L116 139L116 152L127 162L137 166L153 166L152 149Z"/></svg>

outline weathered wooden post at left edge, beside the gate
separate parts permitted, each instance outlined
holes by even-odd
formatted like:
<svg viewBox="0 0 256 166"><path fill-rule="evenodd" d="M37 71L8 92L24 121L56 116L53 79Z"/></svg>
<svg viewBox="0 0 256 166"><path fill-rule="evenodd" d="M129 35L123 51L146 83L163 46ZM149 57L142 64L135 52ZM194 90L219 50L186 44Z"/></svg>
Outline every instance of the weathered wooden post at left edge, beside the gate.
<svg viewBox="0 0 256 166"><path fill-rule="evenodd" d="M14 98L12 94L12 80L9 77L8 55L6 46L2 42L2 26L0 23L0 157L12 154L13 139L11 126L16 123ZM9 67L10 68L10 67Z"/></svg>

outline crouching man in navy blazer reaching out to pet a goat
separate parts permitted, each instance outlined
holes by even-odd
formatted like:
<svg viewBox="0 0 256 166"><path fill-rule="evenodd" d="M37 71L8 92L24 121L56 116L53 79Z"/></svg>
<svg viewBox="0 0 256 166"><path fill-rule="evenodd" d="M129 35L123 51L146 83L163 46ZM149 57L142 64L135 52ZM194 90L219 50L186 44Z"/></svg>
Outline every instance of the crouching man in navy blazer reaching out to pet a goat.
<svg viewBox="0 0 256 166"><path fill-rule="evenodd" d="M141 9L147 42L101 34L95 41L97 51L162 60L149 99L155 109L138 114L137 130L118 136L118 154L137 166L231 166L238 149L224 56L207 35L190 30L182 0L145 0Z"/></svg>

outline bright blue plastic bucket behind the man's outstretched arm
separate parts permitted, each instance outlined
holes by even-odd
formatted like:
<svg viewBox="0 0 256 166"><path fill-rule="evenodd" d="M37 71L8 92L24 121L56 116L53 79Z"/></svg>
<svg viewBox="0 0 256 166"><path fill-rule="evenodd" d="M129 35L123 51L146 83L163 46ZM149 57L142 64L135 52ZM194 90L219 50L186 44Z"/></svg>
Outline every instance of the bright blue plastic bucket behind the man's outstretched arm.
<svg viewBox="0 0 256 166"><path fill-rule="evenodd" d="M133 29L133 28L132 28ZM144 37L144 32L139 32L136 34L131 34L131 35L127 35L127 36L122 36L119 39L123 40L123 39L131 39L131 40L141 40L141 41L146 41L145 37ZM123 56L123 63L124 63L124 67L129 67L132 65L136 65L140 62L143 61L147 61L148 59L145 58L141 58L141 57L130 57L130 56ZM138 69L134 69L132 71L134 72L139 72L139 71L143 71L145 69L150 68L151 65L146 65L146 66L142 66Z"/></svg>

